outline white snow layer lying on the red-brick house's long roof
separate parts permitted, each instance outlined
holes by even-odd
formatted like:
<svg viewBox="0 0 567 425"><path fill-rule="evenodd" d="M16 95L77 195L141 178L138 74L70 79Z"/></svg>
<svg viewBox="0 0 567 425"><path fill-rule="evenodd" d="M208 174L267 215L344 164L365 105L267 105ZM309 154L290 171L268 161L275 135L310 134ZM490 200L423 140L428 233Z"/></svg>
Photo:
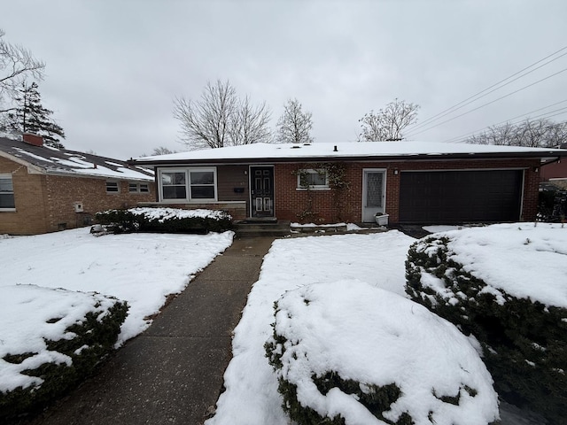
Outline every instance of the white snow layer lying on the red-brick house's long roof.
<svg viewBox="0 0 567 425"><path fill-rule="evenodd" d="M337 151L334 151L337 146ZM223 159L270 159L270 158L329 158L329 157L392 157L416 155L448 154L489 154L489 153L528 153L537 155L564 154L564 150L525 148L518 146L497 146L488 144L434 143L434 142L346 142L346 143L252 143L229 146L219 149L188 151L158 155L136 160L176 161L176 160L223 160Z"/></svg>

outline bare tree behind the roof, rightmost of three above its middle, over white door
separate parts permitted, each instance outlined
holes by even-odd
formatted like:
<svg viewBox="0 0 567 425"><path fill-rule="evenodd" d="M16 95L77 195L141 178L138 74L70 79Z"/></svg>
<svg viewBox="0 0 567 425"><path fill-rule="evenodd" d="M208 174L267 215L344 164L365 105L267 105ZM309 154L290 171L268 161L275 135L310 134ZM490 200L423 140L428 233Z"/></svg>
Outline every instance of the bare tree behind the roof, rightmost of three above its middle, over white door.
<svg viewBox="0 0 567 425"><path fill-rule="evenodd" d="M359 120L362 133L359 139L365 142L401 140L402 130L417 120L419 105L394 99L378 112L370 111Z"/></svg>

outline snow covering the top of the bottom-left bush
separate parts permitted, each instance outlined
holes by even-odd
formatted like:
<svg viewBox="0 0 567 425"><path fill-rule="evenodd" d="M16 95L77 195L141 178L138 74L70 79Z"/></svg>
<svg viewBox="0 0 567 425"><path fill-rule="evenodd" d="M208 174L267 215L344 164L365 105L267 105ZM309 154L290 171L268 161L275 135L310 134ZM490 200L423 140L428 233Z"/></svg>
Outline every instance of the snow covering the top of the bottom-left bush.
<svg viewBox="0 0 567 425"><path fill-rule="evenodd" d="M116 299L100 294L53 290L35 285L0 287L0 391L17 387L38 386L43 379L22 374L44 363L71 366L72 359L61 352L48 349L46 341L70 340L76 335L66 331L81 323L87 313L95 313L102 320ZM28 354L21 362L9 362L7 355Z"/></svg>

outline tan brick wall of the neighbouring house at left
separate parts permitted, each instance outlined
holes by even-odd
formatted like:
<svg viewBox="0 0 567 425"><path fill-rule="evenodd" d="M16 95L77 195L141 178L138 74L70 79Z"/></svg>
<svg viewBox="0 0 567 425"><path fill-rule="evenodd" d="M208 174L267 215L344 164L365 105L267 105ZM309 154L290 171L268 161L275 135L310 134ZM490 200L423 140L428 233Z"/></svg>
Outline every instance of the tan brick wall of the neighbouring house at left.
<svg viewBox="0 0 567 425"><path fill-rule="evenodd" d="M0 157L0 174L12 174L16 212L0 212L0 234L36 235L62 228L84 226L98 211L133 207L138 202L155 200L155 183L150 193L129 193L128 182L120 182L120 193L107 194L106 180L28 173ZM81 202L83 213L74 212Z"/></svg>

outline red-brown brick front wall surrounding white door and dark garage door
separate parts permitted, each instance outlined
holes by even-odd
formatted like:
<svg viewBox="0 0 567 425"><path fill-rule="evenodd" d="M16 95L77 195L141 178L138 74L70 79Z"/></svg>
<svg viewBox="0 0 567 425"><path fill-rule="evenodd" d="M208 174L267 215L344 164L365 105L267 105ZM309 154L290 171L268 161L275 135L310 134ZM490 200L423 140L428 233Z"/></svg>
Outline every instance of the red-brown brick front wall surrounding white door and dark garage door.
<svg viewBox="0 0 567 425"><path fill-rule="evenodd" d="M400 173L420 170L459 170L459 169L500 169L525 168L524 202L522 220L535 220L538 204L539 173L534 170L540 166L539 159L498 159L498 160L447 160L447 161L404 161L404 162L357 162L346 164L346 180L350 190L340 196L338 203L334 190L298 190L297 176L300 168L313 168L313 164L276 164L276 217L281 220L331 223L338 221L360 222L362 214L362 169L383 168L386 170L385 213L390 214L389 222L399 221ZM398 174L394 171L398 170ZM310 211L314 214L300 220L301 212L308 210L309 197L312 199Z"/></svg>

